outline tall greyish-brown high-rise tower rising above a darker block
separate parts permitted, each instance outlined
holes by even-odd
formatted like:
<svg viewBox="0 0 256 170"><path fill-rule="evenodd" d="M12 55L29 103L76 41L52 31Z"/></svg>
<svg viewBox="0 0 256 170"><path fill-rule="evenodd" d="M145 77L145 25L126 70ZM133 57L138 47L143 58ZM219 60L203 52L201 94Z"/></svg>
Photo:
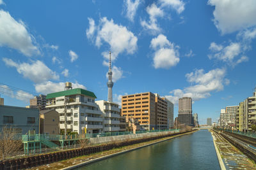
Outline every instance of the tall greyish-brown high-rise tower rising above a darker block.
<svg viewBox="0 0 256 170"><path fill-rule="evenodd" d="M179 114L192 114L191 97L182 97L179 99Z"/></svg>

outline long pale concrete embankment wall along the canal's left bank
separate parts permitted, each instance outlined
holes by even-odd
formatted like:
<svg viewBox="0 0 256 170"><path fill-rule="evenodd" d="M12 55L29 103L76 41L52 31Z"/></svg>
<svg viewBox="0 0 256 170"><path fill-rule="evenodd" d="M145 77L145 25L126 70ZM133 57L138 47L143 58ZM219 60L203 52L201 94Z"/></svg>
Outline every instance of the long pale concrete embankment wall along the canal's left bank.
<svg viewBox="0 0 256 170"><path fill-rule="evenodd" d="M174 134L174 133L175 133L175 131L147 132L147 133L141 133L141 134L126 134L126 135L120 135L120 136L106 136L106 137L99 137L99 138L90 138L90 145L127 141L127 140L140 139L140 138L150 138L150 137L154 137L154 136L170 135L170 134Z"/></svg>

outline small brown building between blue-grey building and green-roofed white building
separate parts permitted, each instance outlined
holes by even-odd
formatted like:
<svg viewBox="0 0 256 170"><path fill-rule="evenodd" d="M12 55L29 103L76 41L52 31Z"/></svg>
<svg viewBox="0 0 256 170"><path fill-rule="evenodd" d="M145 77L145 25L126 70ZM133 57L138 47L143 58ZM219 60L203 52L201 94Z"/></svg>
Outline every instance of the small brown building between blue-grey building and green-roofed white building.
<svg viewBox="0 0 256 170"><path fill-rule="evenodd" d="M56 110L41 110L39 133L60 134L60 114Z"/></svg>

